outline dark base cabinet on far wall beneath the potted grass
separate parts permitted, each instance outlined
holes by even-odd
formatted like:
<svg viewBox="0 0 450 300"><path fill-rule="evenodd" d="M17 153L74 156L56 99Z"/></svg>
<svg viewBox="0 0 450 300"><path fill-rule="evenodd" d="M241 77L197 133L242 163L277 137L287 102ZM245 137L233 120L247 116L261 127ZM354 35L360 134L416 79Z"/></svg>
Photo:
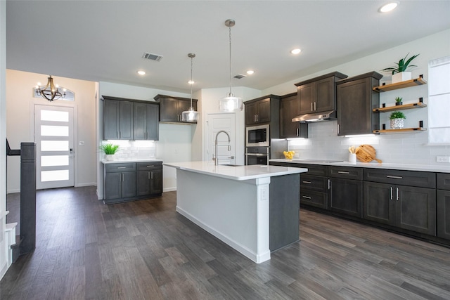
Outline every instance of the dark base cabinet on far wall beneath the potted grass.
<svg viewBox="0 0 450 300"><path fill-rule="evenodd" d="M104 164L103 178L105 204L162 194L162 162Z"/></svg>

